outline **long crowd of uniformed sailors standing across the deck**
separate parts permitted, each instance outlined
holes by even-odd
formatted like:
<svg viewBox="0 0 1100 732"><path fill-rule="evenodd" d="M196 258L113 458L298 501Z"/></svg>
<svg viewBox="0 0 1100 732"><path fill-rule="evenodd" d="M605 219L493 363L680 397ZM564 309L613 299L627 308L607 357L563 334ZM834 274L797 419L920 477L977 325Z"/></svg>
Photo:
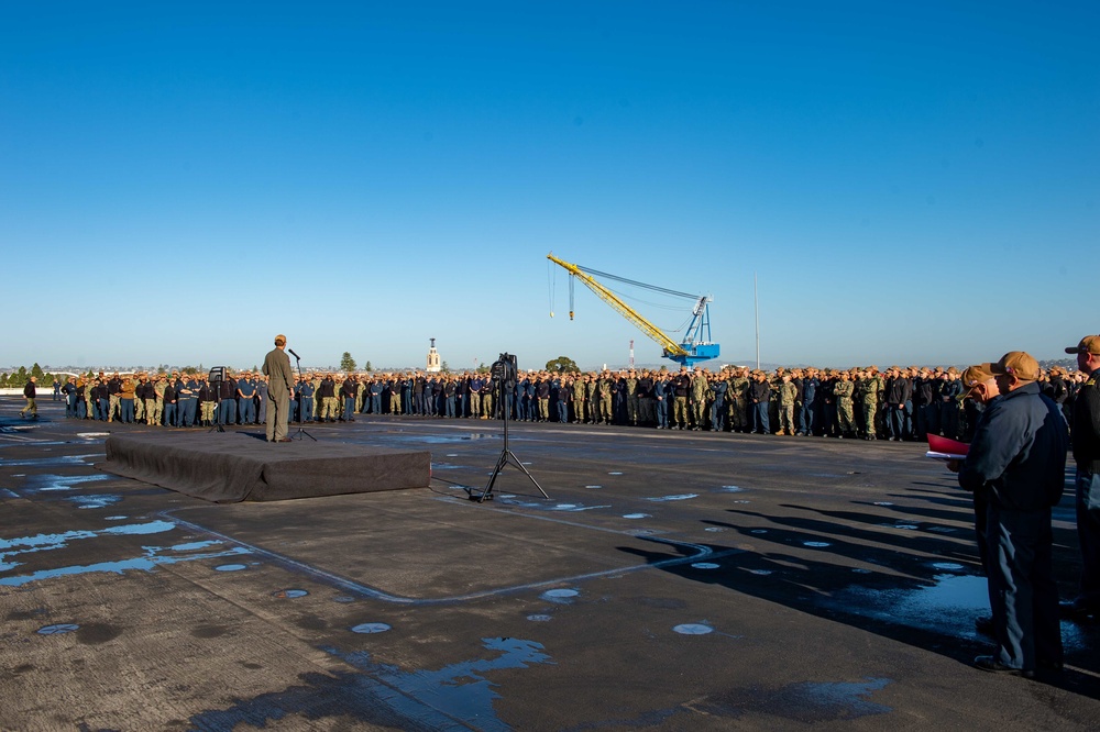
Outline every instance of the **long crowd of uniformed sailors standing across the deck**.
<svg viewBox="0 0 1100 732"><path fill-rule="evenodd" d="M1080 371L1044 370L1042 388L1070 415ZM66 415L189 428L261 424L262 374L111 374L61 387ZM524 371L514 384L488 374L307 373L290 421L353 422L361 414L619 424L662 430L756 432L839 439L967 439L978 406L955 368L849 369L728 366L710 370Z"/></svg>

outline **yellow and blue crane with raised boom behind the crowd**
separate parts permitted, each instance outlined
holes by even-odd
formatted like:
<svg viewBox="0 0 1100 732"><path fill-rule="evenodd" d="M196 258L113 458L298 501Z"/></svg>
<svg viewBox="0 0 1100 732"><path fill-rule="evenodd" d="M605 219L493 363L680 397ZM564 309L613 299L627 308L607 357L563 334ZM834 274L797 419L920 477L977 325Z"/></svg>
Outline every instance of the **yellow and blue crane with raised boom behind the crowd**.
<svg viewBox="0 0 1100 732"><path fill-rule="evenodd" d="M553 262L556 265L563 268L570 274L571 277L575 277L581 280L581 284L595 292L601 300L615 308L619 314L634 323L638 330L656 341L664 350L663 355L666 358L671 358L681 365L694 366L701 361L710 361L718 357L721 347L717 343L711 342L710 303L712 298L710 295L689 295L688 292L678 292L663 287L656 287L653 285L646 285L644 282L624 279L623 277L608 275L603 271L596 271L595 269L590 269L587 267L582 267L580 265L559 259L553 255L553 253L548 254L547 259L550 259L550 262ZM695 307L692 308L691 325L688 328L683 342L676 343L673 341L664 333L664 331L642 318L641 314L639 314L634 308L623 302L623 300L620 300L614 292L596 281L592 275L600 275L601 277L615 279L628 285L663 292L666 295L673 295L695 300ZM572 288L570 288L569 319L573 320Z"/></svg>

